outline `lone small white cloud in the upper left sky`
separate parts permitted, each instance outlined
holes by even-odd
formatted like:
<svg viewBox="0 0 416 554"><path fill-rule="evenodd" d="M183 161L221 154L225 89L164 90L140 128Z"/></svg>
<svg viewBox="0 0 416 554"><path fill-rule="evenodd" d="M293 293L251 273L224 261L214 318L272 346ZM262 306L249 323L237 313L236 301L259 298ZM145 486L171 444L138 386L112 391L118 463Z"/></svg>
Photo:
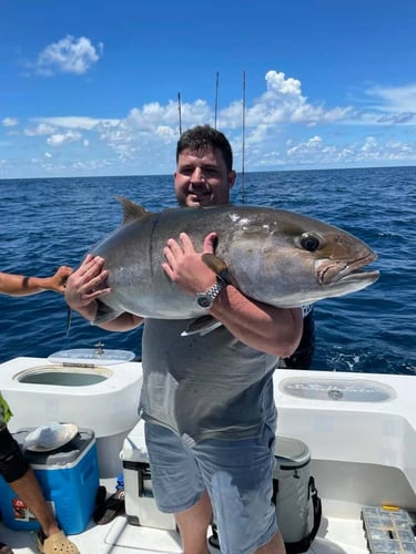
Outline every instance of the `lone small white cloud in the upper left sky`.
<svg viewBox="0 0 416 554"><path fill-rule="evenodd" d="M82 75L100 60L102 51L102 42L95 48L85 37L75 39L68 34L64 39L53 42L42 50L38 55L35 66L38 72L43 75L55 73Z"/></svg>

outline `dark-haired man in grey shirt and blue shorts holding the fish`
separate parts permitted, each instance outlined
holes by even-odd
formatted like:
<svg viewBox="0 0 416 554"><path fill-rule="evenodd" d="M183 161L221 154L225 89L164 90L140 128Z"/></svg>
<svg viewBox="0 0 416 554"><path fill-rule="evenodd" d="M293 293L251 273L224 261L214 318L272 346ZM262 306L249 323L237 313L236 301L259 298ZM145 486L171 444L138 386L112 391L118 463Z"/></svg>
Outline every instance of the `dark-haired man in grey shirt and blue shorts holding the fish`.
<svg viewBox="0 0 416 554"><path fill-rule="evenodd" d="M205 125L186 131L176 150L180 206L227 204L234 185L226 137ZM224 285L202 261L215 249L215 229L195 252L181 233L168 240L162 267L184 293L202 296L223 325L181 337L183 320L148 318L143 329L140 400L153 491L159 507L175 514L185 554L207 554L214 515L223 554L283 554L271 503L276 412L273 371L302 335L302 309L277 309ZM93 320L109 293L101 257L88 255L68 280L68 304ZM128 330L142 318L122 314L102 324Z"/></svg>

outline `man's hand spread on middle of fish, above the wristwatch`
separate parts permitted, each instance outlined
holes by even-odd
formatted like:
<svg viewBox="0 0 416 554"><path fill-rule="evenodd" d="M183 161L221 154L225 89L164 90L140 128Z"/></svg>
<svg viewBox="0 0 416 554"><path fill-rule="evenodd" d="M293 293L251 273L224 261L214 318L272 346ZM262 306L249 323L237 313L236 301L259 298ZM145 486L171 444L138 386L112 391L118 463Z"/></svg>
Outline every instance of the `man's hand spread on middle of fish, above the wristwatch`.
<svg viewBox="0 0 416 554"><path fill-rule="evenodd" d="M202 254L214 253L215 239L215 233L206 235L203 252L199 253L190 236L186 233L181 233L180 242L170 238L163 248L166 258L166 261L162 264L164 271L190 296L207 290L215 284L215 273L202 260Z"/></svg>

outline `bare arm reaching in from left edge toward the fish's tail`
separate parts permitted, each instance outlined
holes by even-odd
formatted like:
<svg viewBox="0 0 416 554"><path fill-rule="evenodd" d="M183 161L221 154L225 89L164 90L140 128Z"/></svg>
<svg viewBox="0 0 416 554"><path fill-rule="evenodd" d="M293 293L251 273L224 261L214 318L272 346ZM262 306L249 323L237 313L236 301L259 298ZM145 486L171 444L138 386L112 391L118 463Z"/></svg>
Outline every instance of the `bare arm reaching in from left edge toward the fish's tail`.
<svg viewBox="0 0 416 554"><path fill-rule="evenodd" d="M0 293L10 296L29 296L54 290L63 294L65 281L72 269L61 266L51 277L26 277L24 275L0 273Z"/></svg>

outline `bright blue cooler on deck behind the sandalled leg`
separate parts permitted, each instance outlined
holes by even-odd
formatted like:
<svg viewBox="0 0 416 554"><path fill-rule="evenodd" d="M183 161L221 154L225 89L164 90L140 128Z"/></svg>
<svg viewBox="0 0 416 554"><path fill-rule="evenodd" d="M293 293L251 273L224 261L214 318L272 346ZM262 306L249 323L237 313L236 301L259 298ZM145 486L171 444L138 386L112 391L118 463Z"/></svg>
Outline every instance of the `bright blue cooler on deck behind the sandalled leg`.
<svg viewBox="0 0 416 554"><path fill-rule="evenodd" d="M94 432L80 429L69 443L57 450L32 452L24 449L24 438L34 429L20 429L13 437L33 468L62 531L68 535L81 533L94 511L100 484ZM40 529L38 520L1 475L0 511L4 525L10 529Z"/></svg>

